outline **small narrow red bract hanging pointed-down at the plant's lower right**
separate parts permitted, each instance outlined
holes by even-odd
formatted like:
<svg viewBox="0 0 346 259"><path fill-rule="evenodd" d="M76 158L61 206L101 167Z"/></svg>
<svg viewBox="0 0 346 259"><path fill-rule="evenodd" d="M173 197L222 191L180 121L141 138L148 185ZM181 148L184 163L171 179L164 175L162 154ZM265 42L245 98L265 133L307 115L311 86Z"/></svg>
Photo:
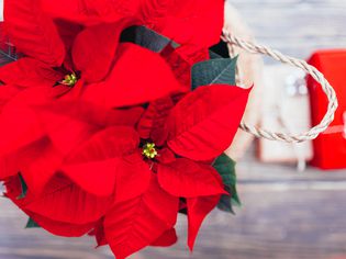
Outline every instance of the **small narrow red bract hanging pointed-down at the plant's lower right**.
<svg viewBox="0 0 346 259"><path fill-rule="evenodd" d="M187 199L189 236L188 246L193 250L198 232L205 216L216 206L221 195Z"/></svg>

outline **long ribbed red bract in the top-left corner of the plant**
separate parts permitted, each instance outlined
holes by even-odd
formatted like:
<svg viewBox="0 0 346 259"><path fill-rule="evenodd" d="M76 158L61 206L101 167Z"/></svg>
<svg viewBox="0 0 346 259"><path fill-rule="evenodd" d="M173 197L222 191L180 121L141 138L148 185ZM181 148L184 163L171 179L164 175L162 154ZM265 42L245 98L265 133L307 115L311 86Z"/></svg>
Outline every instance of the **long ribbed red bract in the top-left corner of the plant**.
<svg viewBox="0 0 346 259"><path fill-rule="evenodd" d="M4 20L11 42L20 52L52 67L63 64L64 43L40 0L7 0Z"/></svg>

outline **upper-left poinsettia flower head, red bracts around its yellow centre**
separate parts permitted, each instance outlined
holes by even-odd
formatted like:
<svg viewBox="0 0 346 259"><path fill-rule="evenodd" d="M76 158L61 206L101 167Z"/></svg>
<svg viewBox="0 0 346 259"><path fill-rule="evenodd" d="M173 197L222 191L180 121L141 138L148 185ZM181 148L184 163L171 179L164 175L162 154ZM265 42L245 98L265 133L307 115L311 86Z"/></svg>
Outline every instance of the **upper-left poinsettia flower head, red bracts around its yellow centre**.
<svg viewBox="0 0 346 259"><path fill-rule="evenodd" d="M33 157L37 157L38 150L44 149L54 162L46 165L49 168L36 166L46 171L43 178L29 180L37 191L76 145L107 126L133 126L143 111L142 108L127 111L114 111L113 108L147 102L181 89L158 54L134 44L119 43L121 32L134 23L133 18L123 16L116 23L85 27L53 20L43 12L40 2L7 1L8 34L30 57L0 69L0 79L5 83L1 87L0 103L3 125L0 157L5 169L0 178L16 173L23 165L40 165ZM152 67L157 67L157 71ZM133 71L138 77L130 80ZM167 83L161 86L161 81ZM67 105L65 102L70 102L67 110L58 111L56 106ZM94 114L98 111L98 117L88 117L87 110ZM72 115L71 111L75 111ZM102 116L111 117L111 122L100 122ZM51 143L54 150L47 147ZM37 168L30 166L23 173ZM37 178L38 173L35 176Z"/></svg>

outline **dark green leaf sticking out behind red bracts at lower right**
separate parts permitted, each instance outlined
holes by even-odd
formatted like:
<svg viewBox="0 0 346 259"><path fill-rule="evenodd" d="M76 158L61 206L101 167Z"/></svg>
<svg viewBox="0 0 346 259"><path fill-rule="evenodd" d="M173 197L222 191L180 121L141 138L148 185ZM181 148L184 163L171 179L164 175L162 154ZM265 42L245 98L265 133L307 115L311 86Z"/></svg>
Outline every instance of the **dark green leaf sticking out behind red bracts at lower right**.
<svg viewBox="0 0 346 259"><path fill-rule="evenodd" d="M225 190L230 195L223 195L217 207L222 211L233 213L233 206L241 206L242 202L236 190L235 161L226 154L222 154L213 164L215 170L220 173Z"/></svg>

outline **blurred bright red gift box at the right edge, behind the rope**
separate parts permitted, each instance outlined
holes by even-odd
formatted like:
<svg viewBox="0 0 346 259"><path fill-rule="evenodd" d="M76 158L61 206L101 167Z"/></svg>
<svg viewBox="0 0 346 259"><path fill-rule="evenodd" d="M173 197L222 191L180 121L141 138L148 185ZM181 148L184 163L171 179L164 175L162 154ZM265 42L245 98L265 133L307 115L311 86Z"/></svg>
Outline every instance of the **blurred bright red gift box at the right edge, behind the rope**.
<svg viewBox="0 0 346 259"><path fill-rule="evenodd" d="M346 168L346 49L317 52L309 63L324 74L339 102L334 122L313 142L311 165L322 169ZM323 119L328 101L320 85L311 77L308 78L308 86L312 123L316 125Z"/></svg>

